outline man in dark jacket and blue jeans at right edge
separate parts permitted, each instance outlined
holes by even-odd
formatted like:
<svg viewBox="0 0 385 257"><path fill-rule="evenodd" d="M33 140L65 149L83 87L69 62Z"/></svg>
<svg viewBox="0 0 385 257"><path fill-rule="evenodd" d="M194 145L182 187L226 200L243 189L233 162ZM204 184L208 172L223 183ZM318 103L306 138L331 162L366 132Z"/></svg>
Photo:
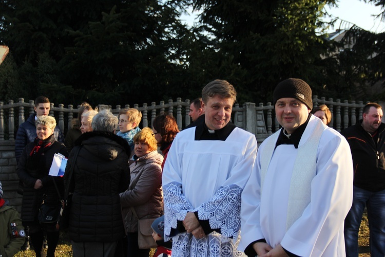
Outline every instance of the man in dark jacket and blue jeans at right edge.
<svg viewBox="0 0 385 257"><path fill-rule="evenodd" d="M358 231L365 206L368 210L370 252L385 255L385 123L381 105L368 103L362 120L343 130L353 157L353 205L345 219L347 256L358 256Z"/></svg>

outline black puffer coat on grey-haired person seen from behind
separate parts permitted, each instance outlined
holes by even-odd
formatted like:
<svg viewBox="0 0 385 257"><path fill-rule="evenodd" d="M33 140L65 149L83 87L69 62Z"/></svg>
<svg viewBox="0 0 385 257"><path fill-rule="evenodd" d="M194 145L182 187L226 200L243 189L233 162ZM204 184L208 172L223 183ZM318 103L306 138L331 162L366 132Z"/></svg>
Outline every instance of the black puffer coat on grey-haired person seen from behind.
<svg viewBox="0 0 385 257"><path fill-rule="evenodd" d="M68 171L76 148L70 192L73 192L69 237L75 242L114 242L124 236L119 193L130 183L130 148L123 138L105 132L87 132L75 142Z"/></svg>

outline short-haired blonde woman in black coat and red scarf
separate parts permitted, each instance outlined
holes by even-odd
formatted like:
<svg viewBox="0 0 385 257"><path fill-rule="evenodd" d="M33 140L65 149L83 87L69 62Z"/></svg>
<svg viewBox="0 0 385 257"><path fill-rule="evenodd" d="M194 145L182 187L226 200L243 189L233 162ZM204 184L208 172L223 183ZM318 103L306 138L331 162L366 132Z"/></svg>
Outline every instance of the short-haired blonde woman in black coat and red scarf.
<svg viewBox="0 0 385 257"><path fill-rule="evenodd" d="M56 121L51 116L40 116L36 120L37 137L34 142L26 145L17 165L17 174L24 184L22 201L22 220L24 226L29 226L30 238L36 256L41 256L43 246L43 231L47 233L47 256L55 255L59 231L55 225L41 225L37 214L45 195L45 203L57 205L60 196L54 186L54 181L63 191L63 178L49 176L53 156L61 153L68 156L64 144L55 141L53 131Z"/></svg>

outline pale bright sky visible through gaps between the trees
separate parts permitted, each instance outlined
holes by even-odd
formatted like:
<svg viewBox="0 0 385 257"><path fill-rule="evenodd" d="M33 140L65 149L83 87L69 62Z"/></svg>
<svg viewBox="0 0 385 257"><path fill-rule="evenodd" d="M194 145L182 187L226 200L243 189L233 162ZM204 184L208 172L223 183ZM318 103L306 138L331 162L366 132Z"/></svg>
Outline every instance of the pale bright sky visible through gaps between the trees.
<svg viewBox="0 0 385 257"><path fill-rule="evenodd" d="M334 32L340 26L341 28L345 28L345 26L350 28L353 24L372 32L385 32L385 21L380 21L379 18L376 19L372 16L381 13L381 8L370 3L364 3L362 0L339 0L338 7L327 7L326 11L333 17L339 17L342 20L342 22L337 21L334 28L330 28L328 32ZM191 9L189 13L191 13ZM194 23L195 15L194 13L182 15L181 19L191 26Z"/></svg>

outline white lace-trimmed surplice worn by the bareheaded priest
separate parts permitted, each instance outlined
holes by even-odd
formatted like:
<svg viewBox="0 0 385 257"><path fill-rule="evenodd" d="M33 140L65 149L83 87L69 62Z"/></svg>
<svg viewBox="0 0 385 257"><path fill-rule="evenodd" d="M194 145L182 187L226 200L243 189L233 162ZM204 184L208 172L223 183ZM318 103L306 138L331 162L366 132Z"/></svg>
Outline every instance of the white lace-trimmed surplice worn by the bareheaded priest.
<svg viewBox="0 0 385 257"><path fill-rule="evenodd" d="M177 135L163 169L165 240L172 237L174 256L244 256L236 250L241 193L252 172L257 141L237 127L225 141L195 140L195 130ZM173 234L187 212L198 212L199 219L220 233L201 240L187 232Z"/></svg>

